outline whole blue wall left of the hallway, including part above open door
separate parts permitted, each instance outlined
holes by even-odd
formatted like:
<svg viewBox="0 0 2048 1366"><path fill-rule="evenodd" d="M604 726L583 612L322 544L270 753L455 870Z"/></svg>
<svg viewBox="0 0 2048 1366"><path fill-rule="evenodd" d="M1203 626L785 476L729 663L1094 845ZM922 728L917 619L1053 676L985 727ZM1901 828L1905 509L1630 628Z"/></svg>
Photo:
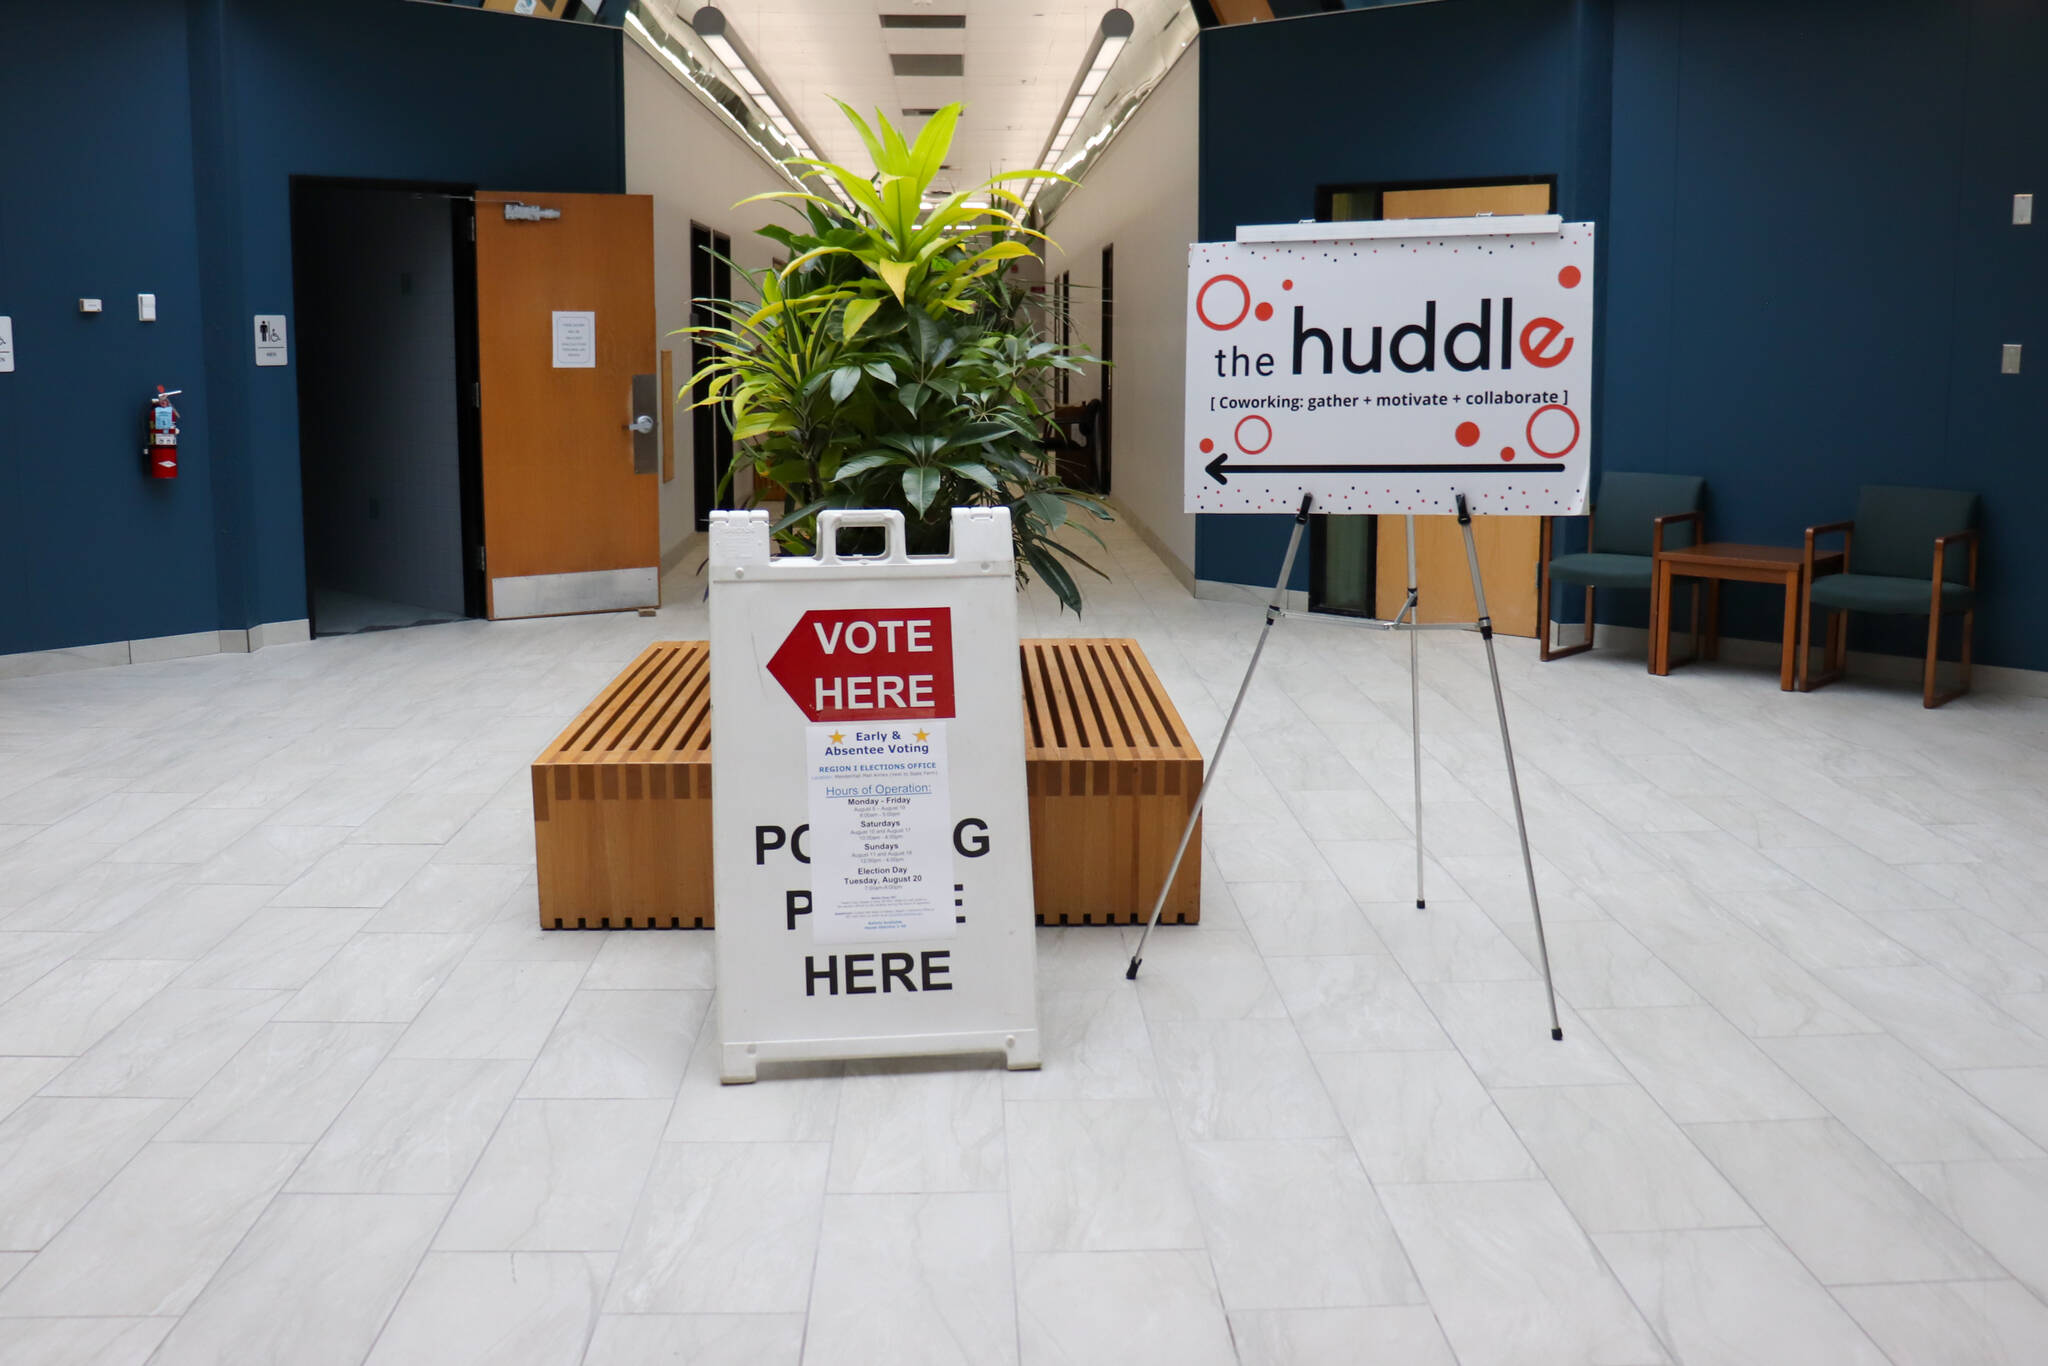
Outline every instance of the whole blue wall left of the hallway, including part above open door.
<svg viewBox="0 0 2048 1366"><path fill-rule="evenodd" d="M0 653L305 616L297 369L250 338L295 315L291 176L618 193L618 43L406 0L0 6ZM172 485L137 473L156 383L188 389Z"/></svg>

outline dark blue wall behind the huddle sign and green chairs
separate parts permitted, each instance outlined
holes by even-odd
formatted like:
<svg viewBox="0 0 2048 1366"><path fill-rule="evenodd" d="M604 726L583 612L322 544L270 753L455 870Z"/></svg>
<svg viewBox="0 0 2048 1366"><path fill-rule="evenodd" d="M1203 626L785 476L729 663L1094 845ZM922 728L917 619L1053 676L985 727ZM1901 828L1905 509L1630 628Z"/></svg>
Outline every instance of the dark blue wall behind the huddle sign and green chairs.
<svg viewBox="0 0 2048 1366"><path fill-rule="evenodd" d="M1706 475L1737 541L1794 543L1860 483L1980 489L1978 657L2048 668L2048 367L1997 373L2001 342L2048 346L2048 227L2011 225L2048 166L2048 6L1442 0L1202 43L1204 238L1323 182L1556 170L1602 225L1602 465ZM1282 539L1202 518L1196 573L1257 584ZM1765 590L1726 608L1776 639Z"/></svg>

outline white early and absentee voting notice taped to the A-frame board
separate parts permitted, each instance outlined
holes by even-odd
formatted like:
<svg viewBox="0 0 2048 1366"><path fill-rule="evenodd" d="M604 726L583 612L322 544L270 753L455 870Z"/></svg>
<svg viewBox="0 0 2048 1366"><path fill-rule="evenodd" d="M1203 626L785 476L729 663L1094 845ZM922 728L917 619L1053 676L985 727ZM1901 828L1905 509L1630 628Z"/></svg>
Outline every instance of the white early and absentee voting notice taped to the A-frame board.
<svg viewBox="0 0 2048 1366"><path fill-rule="evenodd" d="M813 940L952 938L946 723L811 725L805 745Z"/></svg>

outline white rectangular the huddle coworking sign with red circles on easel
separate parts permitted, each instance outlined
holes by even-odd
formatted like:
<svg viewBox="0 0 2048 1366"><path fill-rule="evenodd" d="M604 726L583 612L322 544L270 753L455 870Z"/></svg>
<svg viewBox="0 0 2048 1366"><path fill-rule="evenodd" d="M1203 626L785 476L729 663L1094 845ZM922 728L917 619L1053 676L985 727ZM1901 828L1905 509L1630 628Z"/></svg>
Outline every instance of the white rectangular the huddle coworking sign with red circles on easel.
<svg viewBox="0 0 2048 1366"><path fill-rule="evenodd" d="M1591 405L1591 223L1188 248L1188 512L1583 512Z"/></svg>

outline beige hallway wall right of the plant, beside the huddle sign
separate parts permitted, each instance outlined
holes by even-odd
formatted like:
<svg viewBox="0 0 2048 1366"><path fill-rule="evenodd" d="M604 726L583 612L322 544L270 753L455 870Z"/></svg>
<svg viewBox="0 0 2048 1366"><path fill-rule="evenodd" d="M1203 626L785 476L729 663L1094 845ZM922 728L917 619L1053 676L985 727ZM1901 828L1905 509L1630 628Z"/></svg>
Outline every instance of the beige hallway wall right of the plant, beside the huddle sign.
<svg viewBox="0 0 2048 1366"><path fill-rule="evenodd" d="M1188 244L1196 240L1198 49L1182 53L1047 227L1057 244L1047 276L1069 272L1075 340L1090 350L1100 344L1102 248L1116 246L1112 496L1190 584L1194 516L1180 510L1182 367ZM1096 393L1096 375L1071 387L1075 403Z"/></svg>

